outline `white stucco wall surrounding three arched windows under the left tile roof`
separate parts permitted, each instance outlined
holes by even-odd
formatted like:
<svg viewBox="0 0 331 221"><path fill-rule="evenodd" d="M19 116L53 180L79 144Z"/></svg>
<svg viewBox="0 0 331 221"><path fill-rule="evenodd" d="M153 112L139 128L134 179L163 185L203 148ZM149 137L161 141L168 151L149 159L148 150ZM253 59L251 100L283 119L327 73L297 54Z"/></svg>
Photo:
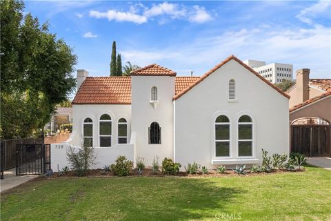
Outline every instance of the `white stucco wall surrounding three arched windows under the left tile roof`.
<svg viewBox="0 0 331 221"><path fill-rule="evenodd" d="M86 117L93 120L93 146L100 146L99 119L108 114L112 118L112 146L117 144L117 122L125 118L128 122L128 142L130 141L131 105L115 104L76 104L72 105L72 135L70 144L81 146L83 142L83 121Z"/></svg>

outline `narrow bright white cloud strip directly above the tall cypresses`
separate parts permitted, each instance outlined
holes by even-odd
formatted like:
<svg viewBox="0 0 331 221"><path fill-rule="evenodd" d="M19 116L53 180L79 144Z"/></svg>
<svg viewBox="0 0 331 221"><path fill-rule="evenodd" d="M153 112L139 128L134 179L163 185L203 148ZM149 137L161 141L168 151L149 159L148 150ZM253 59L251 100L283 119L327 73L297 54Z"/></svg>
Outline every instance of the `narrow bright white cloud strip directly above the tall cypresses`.
<svg viewBox="0 0 331 221"><path fill-rule="evenodd" d="M132 12L118 12L116 10L108 10L107 12L90 11L90 17L97 19L106 18L109 21L131 21L133 23L145 23L147 18L145 16L136 15Z"/></svg>

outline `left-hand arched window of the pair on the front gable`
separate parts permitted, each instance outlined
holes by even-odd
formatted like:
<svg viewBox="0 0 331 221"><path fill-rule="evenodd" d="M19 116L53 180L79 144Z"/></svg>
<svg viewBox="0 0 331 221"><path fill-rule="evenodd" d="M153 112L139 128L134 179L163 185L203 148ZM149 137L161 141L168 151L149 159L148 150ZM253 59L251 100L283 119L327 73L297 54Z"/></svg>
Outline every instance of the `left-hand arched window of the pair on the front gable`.
<svg viewBox="0 0 331 221"><path fill-rule="evenodd" d="M215 148L216 157L230 157L230 121L225 115L215 121Z"/></svg>

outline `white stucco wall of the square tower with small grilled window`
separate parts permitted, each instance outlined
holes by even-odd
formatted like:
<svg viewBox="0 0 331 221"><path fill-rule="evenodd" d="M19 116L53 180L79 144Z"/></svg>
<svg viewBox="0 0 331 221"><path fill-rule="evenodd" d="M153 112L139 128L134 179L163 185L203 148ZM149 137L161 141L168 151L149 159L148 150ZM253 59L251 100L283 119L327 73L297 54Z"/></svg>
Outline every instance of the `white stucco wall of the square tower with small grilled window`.
<svg viewBox="0 0 331 221"><path fill-rule="evenodd" d="M152 86L158 90L156 108L150 104ZM155 155L160 160L173 157L174 77L132 76L132 133L136 133L136 157L144 157L147 165ZM148 144L148 128L152 122L161 127L161 144Z"/></svg>

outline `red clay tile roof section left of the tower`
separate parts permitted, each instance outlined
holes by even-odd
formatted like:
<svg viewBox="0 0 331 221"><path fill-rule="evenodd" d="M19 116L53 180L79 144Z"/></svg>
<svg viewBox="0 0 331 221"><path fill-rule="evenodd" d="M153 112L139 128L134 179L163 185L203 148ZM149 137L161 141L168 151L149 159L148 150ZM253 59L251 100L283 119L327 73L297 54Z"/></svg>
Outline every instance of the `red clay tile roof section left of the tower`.
<svg viewBox="0 0 331 221"><path fill-rule="evenodd" d="M72 104L131 104L131 77L86 77Z"/></svg>

